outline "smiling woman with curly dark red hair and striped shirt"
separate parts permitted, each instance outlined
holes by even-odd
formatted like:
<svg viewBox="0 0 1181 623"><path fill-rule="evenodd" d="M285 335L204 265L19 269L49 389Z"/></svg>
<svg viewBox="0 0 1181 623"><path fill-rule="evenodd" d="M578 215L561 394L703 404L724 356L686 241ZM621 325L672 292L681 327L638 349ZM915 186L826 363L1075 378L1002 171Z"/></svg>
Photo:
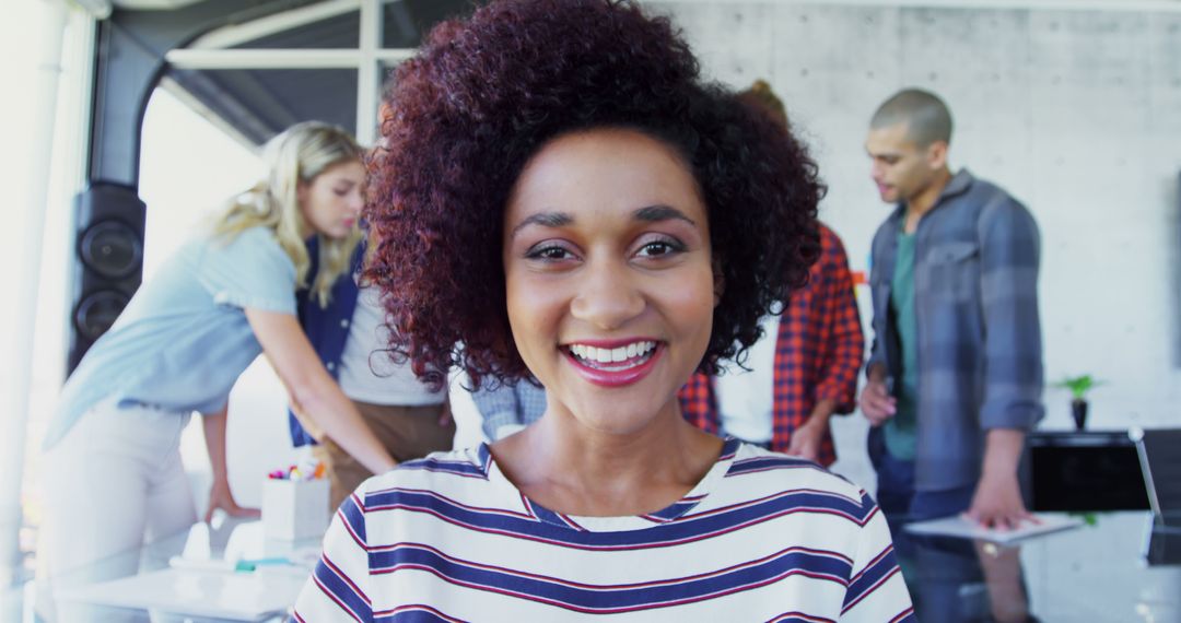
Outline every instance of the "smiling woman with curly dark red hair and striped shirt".
<svg viewBox="0 0 1181 623"><path fill-rule="evenodd" d="M864 492L678 406L818 253L803 146L628 2L492 2L396 84L366 208L391 349L547 408L364 484L295 618L908 618Z"/></svg>

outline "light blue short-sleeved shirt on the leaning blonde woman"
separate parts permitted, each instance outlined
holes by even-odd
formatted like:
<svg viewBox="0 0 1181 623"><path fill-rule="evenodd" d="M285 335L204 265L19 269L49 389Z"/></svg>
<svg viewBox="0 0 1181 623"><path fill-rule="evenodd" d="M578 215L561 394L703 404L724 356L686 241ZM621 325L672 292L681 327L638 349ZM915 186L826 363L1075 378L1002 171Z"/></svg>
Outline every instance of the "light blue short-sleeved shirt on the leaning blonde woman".
<svg viewBox="0 0 1181 623"><path fill-rule="evenodd" d="M66 381L45 447L99 402L216 413L262 352L244 308L295 315L295 265L266 227L185 243Z"/></svg>

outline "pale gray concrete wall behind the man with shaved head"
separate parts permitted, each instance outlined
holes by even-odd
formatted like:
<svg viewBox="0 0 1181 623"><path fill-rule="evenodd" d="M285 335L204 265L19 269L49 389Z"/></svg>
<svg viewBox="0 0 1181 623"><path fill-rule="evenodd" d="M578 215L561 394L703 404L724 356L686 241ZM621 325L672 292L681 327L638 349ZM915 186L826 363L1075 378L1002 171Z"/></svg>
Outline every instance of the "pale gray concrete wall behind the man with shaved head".
<svg viewBox="0 0 1181 623"><path fill-rule="evenodd" d="M646 5L684 28L707 76L765 78L783 97L854 270L888 214L869 181L869 116L903 86L942 96L953 168L1009 189L1042 228L1046 378L1105 381L1096 428L1181 426L1181 12ZM1043 427L1068 427L1069 394L1045 401ZM861 463L862 419L837 433Z"/></svg>

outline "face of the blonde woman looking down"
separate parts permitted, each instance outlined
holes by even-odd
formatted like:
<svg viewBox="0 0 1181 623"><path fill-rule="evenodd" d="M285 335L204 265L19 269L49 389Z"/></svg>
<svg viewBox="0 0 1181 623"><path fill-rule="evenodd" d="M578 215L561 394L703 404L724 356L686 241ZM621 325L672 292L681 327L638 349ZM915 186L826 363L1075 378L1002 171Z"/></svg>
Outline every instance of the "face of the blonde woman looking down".
<svg viewBox="0 0 1181 623"><path fill-rule="evenodd" d="M365 168L358 160L334 164L311 182L299 184L299 205L304 221L315 234L344 238L357 227L357 217L365 204L361 185Z"/></svg>

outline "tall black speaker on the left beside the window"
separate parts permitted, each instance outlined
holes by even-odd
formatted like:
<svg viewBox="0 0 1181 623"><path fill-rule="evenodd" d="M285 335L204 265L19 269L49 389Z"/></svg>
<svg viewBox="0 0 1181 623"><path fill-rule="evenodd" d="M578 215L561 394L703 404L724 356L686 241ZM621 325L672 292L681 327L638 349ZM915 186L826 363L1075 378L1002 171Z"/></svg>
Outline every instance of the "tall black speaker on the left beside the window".
<svg viewBox="0 0 1181 623"><path fill-rule="evenodd" d="M74 198L78 237L66 374L111 328L139 287L146 214L129 186L96 183Z"/></svg>

